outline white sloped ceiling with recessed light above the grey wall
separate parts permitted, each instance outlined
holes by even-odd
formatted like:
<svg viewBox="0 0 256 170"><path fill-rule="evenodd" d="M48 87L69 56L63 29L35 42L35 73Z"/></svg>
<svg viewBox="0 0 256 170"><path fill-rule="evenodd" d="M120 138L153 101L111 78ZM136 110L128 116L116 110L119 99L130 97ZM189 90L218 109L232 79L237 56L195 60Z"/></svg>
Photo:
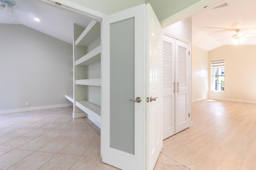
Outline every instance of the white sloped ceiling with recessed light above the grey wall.
<svg viewBox="0 0 256 170"><path fill-rule="evenodd" d="M2 4L0 2L0 4ZM0 9L0 23L22 24L42 33L73 44L73 23L86 27L90 20L74 14L42 4L35 0L16 0L15 14L11 16L7 8ZM34 18L41 21L36 22Z"/></svg>

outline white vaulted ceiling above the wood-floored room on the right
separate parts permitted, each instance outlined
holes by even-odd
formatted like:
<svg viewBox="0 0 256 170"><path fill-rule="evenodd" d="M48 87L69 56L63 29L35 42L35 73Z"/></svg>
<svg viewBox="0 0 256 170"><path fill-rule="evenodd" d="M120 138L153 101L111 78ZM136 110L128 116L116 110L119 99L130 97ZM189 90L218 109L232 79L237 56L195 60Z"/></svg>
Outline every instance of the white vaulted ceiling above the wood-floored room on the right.
<svg viewBox="0 0 256 170"><path fill-rule="evenodd" d="M233 45L230 38L236 35L236 29L244 35L256 33L256 0L226 0L221 4L225 2L228 6L208 8L192 17L193 45L210 51L222 45ZM240 45L256 45L256 34L246 37Z"/></svg>

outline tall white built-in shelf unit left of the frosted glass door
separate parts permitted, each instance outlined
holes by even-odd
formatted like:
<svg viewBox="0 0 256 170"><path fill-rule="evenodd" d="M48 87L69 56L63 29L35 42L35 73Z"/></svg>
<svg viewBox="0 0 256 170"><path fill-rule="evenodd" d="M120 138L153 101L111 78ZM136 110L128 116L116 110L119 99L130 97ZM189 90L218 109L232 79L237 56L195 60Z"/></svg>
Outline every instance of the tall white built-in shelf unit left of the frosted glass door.
<svg viewBox="0 0 256 170"><path fill-rule="evenodd" d="M101 125L101 39L100 22L86 28L74 23L73 41L73 118L88 117Z"/></svg>

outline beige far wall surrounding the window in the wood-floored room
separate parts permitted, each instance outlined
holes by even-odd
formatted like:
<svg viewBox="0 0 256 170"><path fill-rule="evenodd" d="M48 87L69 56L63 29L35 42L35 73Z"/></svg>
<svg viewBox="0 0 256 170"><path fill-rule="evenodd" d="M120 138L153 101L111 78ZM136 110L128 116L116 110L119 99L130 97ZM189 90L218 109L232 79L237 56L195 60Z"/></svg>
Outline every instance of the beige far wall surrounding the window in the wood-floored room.
<svg viewBox="0 0 256 170"><path fill-rule="evenodd" d="M211 61L225 60L224 92L211 92L208 81L208 96L212 99L247 102L256 104L256 45L224 45L209 51Z"/></svg>

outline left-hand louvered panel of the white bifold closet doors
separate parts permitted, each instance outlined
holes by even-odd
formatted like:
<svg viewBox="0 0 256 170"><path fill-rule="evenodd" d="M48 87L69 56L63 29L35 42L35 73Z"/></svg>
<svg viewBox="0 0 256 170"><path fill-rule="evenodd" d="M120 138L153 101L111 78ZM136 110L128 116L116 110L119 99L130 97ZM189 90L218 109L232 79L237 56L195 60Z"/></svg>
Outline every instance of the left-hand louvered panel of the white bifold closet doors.
<svg viewBox="0 0 256 170"><path fill-rule="evenodd" d="M175 134L175 39L163 37L163 139Z"/></svg>

